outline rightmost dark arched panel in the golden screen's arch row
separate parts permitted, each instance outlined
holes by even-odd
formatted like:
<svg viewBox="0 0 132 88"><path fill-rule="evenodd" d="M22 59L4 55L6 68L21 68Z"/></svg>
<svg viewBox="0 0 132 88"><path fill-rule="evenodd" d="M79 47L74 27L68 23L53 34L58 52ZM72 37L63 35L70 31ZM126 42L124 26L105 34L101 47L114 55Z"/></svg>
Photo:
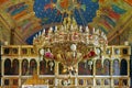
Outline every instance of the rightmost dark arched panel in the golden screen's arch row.
<svg viewBox="0 0 132 88"><path fill-rule="evenodd" d="M121 61L121 75L128 75L128 62L127 62L127 59L122 59Z"/></svg>

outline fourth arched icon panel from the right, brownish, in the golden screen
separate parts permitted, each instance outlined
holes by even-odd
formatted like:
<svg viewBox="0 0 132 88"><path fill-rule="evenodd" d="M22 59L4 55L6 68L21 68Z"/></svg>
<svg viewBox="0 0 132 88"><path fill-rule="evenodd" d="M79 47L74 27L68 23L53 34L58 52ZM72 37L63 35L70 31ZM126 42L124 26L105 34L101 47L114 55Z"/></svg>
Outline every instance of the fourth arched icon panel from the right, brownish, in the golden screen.
<svg viewBox="0 0 132 88"><path fill-rule="evenodd" d="M101 59L96 61L96 75L103 75L103 67L101 64Z"/></svg>

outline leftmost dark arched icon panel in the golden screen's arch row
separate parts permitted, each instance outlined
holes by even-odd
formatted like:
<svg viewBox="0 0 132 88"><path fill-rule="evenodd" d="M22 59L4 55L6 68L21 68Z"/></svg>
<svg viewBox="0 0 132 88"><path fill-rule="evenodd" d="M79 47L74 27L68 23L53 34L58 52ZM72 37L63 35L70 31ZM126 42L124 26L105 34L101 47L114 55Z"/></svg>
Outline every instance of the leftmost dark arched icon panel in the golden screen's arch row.
<svg viewBox="0 0 132 88"><path fill-rule="evenodd" d="M4 61L4 75L11 75L11 61L10 58L7 58Z"/></svg>

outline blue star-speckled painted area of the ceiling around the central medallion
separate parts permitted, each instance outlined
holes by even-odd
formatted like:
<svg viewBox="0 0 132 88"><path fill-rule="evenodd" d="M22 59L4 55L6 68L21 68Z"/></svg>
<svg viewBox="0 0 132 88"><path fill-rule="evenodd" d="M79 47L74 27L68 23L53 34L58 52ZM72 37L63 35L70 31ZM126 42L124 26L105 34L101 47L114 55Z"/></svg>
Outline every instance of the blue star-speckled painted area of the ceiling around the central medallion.
<svg viewBox="0 0 132 88"><path fill-rule="evenodd" d="M70 2L72 0L62 0L62 3L64 2L65 4L66 1ZM55 4L55 7L53 4ZM73 16L79 25L87 25L89 22L92 22L92 19L96 16L96 11L99 9L98 0L77 0L76 3L67 7L68 10L70 10L73 6L78 6L73 9ZM63 21L63 18L66 16L61 12L63 8L57 3L57 0L35 0L33 9L35 15L42 20L42 25L59 23Z"/></svg>

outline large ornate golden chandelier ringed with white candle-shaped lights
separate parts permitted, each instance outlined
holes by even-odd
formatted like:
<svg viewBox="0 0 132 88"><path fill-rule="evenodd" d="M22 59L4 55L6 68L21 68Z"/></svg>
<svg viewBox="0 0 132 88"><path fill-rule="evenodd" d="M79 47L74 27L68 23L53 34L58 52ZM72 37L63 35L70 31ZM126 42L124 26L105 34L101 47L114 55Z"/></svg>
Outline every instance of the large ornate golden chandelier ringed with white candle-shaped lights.
<svg viewBox="0 0 132 88"><path fill-rule="evenodd" d="M76 73L75 65L99 56L101 54L99 52L103 51L108 41L103 32L77 25L76 20L69 15L64 18L61 25L50 28L48 31L44 29L36 34L33 45L41 59L45 57L47 61L59 62L69 73ZM52 67L53 63L50 65ZM92 65L92 61L89 65Z"/></svg>

